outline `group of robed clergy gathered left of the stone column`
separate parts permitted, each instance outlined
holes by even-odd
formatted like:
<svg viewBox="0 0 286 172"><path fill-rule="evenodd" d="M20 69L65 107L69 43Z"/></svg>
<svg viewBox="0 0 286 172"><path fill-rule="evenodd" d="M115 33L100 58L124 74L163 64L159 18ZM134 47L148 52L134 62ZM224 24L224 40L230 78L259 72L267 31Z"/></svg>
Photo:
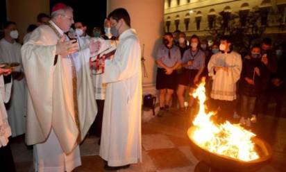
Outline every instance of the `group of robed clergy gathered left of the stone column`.
<svg viewBox="0 0 286 172"><path fill-rule="evenodd" d="M124 8L110 12L103 27L105 33L96 27L87 35L87 26L74 22L64 3L53 6L51 15L37 15L24 44L17 42L15 22L3 25L1 171L15 171L9 140L24 134L39 172L80 166L79 144L87 134L100 138L106 170L142 160L140 43ZM111 48L116 51L100 51Z"/></svg>

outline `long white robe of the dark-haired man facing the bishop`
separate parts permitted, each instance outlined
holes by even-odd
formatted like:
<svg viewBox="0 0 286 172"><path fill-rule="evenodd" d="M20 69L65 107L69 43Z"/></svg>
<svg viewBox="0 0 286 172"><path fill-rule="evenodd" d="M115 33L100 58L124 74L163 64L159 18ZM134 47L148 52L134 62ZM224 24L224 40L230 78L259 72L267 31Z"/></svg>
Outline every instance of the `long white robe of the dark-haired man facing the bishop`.
<svg viewBox="0 0 286 172"><path fill-rule="evenodd" d="M106 60L107 83L99 155L109 166L142 160L142 71L140 42L133 29L121 33L112 60Z"/></svg>

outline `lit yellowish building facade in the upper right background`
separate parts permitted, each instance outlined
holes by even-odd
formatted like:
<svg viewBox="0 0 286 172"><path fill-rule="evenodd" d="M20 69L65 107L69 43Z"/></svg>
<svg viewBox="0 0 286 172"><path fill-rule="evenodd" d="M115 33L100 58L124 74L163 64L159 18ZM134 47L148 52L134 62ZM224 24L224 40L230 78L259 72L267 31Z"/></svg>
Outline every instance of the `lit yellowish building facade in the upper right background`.
<svg viewBox="0 0 286 172"><path fill-rule="evenodd" d="M238 12L242 10L242 8L252 9L255 6L262 7L262 6L271 6L276 10L277 4L286 3L285 0L192 0L190 3L187 3L186 0L180 0L180 4L176 3L177 0L171 0L171 6L168 6L168 0L165 0L165 21L167 21L167 17L171 21L170 31L173 32L176 29L174 20L176 16L179 15L180 24L178 29L180 31L184 31L187 36L196 34L199 36L206 36L209 35L208 31L208 14L210 14L210 10L213 9L212 12L214 15L219 15L218 13L225 10L227 6L229 6L228 11L230 12ZM247 3L248 6L242 7L242 4ZM194 12L190 12L193 10ZM195 17L198 15L197 13L201 12L201 28L200 30L196 30L196 21ZM190 24L188 31L185 31L185 24L184 19L186 15L190 15ZM271 21L271 17L269 17L269 21ZM269 22L270 26L267 28L266 33L279 33L278 27L275 23ZM167 27L165 26L165 29ZM167 30L167 29L166 29ZM286 30L283 31L286 33Z"/></svg>

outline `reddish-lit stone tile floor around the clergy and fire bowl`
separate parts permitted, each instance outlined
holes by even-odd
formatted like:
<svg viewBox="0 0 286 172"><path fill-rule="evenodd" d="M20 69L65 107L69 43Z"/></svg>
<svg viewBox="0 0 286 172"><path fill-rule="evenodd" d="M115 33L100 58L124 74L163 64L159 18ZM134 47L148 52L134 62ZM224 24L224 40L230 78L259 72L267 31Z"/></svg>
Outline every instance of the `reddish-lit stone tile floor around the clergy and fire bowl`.
<svg viewBox="0 0 286 172"><path fill-rule="evenodd" d="M122 171L194 171L198 160L192 154L186 131L191 125L190 115L170 110L163 117L153 117L142 124L143 161ZM260 172L286 171L286 119L261 116L252 130L266 140L274 150L272 160ZM105 171L98 156L98 138L87 137L81 145L82 166L74 172ZM33 171L33 152L24 145L23 137L11 141L18 172Z"/></svg>

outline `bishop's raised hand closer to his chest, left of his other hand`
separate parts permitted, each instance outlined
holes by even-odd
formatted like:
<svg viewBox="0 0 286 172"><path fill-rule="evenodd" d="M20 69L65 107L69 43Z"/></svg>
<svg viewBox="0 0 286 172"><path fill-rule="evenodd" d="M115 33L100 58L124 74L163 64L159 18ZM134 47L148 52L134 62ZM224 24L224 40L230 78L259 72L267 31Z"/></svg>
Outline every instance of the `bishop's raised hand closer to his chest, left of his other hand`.
<svg viewBox="0 0 286 172"><path fill-rule="evenodd" d="M71 53L78 51L78 43L76 40L65 41L65 35L60 37L58 43L56 44L56 54L65 57Z"/></svg>

